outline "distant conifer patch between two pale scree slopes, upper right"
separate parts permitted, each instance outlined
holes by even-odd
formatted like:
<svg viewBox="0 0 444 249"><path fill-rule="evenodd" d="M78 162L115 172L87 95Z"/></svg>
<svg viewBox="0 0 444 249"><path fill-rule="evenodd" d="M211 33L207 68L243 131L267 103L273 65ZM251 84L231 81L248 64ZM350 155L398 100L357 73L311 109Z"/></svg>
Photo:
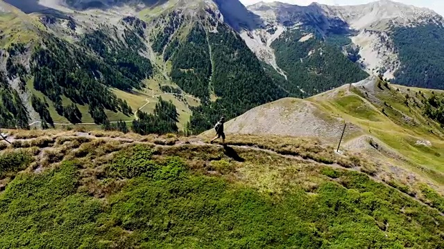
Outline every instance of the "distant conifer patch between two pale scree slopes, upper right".
<svg viewBox="0 0 444 249"><path fill-rule="evenodd" d="M327 37L323 42L312 37L301 42L305 35L304 30L291 30L272 44L278 66L287 73L285 89L293 94L302 89L302 95L309 97L368 77L337 48L343 46L343 39Z"/></svg>

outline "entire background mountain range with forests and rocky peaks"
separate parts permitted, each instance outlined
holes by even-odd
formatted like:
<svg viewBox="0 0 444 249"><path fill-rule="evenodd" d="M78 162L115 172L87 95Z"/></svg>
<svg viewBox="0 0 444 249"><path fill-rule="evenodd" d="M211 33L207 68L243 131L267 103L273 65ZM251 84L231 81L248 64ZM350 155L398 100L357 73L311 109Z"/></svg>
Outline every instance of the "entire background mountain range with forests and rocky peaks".
<svg viewBox="0 0 444 249"><path fill-rule="evenodd" d="M200 133L219 116L369 75L444 89L443 21L386 0L247 7L237 0L0 1L0 124L147 117ZM173 117L160 118L162 101L176 107Z"/></svg>

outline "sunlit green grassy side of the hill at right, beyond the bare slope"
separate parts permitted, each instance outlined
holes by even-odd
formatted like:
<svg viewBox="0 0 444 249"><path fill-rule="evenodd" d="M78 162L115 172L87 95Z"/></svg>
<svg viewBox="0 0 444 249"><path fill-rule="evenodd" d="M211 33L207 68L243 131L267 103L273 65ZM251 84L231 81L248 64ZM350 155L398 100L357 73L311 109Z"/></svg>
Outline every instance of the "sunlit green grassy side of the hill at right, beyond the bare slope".
<svg viewBox="0 0 444 249"><path fill-rule="evenodd" d="M409 169L442 184L444 130L425 117L422 109L422 101L431 92L392 84L384 86L384 82L378 86L375 82L352 86L350 90L349 86L343 86L309 101L332 116L357 124L366 135L381 140L407 158Z"/></svg>

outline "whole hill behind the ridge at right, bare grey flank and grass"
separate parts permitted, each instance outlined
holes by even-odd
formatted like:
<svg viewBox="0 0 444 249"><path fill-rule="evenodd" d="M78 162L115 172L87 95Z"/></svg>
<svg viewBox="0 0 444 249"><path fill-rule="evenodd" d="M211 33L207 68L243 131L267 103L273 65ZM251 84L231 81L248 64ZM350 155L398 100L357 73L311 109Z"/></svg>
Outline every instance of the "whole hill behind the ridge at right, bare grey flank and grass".
<svg viewBox="0 0 444 249"><path fill-rule="evenodd" d="M374 158L388 172L407 169L442 189L444 130L424 114L429 96L432 90L369 77L305 100L284 98L256 107L228 121L225 132L318 138L337 146L347 122L341 150ZM214 136L214 131L203 136Z"/></svg>

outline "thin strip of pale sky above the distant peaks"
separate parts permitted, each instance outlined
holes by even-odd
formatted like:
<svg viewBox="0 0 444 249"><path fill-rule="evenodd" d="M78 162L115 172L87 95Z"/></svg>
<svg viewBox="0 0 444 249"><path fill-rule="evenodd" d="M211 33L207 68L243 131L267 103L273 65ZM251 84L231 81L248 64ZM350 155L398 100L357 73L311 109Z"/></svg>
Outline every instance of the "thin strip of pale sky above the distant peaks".
<svg viewBox="0 0 444 249"><path fill-rule="evenodd" d="M244 3L244 5L250 5L253 3L257 3L261 0L240 0L240 1L242 3ZM273 0L262 0L262 1L271 2ZM279 1L284 2L284 3L297 4L300 6L307 6L314 1L316 1L317 3L323 3L323 4L327 4L327 5L332 5L332 6L335 6L335 5L355 5L355 4L372 2L372 1L368 1L368 0L279 0ZM413 6L418 6L418 7L426 7L426 8L432 9L432 10L438 12L438 14L444 16L444 0L398 0L398 2L406 3L406 4L413 5Z"/></svg>

